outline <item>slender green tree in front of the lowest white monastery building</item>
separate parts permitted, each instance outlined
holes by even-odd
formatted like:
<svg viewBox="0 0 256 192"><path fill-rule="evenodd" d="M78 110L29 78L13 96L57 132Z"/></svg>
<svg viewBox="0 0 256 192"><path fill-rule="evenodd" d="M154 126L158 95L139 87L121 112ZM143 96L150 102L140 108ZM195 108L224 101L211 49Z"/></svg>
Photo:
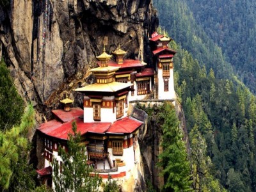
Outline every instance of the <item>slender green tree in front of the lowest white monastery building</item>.
<svg viewBox="0 0 256 192"><path fill-rule="evenodd" d="M97 191L102 179L97 174L90 175L93 168L86 164L86 146L80 132L77 133L76 122L72 123L72 131L68 134L68 152L59 147L61 167L56 159L53 160L55 191Z"/></svg>

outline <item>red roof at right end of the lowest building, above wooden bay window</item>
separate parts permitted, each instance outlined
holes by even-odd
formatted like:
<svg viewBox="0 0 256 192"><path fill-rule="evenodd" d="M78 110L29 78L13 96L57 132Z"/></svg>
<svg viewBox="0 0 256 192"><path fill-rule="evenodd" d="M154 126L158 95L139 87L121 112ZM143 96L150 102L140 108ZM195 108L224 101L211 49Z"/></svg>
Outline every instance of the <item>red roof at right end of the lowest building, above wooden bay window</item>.
<svg viewBox="0 0 256 192"><path fill-rule="evenodd" d="M113 122L111 127L109 127L107 133L116 133L116 134L132 133L133 131L138 129L142 124L143 122L140 122L133 118L125 117Z"/></svg>

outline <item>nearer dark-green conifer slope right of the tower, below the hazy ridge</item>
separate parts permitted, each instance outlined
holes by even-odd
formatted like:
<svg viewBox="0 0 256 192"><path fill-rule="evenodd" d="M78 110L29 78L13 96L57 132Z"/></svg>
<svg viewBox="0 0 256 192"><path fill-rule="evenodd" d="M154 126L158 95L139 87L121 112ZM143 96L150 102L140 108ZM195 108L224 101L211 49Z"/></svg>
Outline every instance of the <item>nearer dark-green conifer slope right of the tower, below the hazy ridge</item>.
<svg viewBox="0 0 256 192"><path fill-rule="evenodd" d="M191 54L179 47L177 50L173 62L178 78L175 90L179 90L191 132L194 189L230 190L232 180L238 178L246 191L253 191L256 186L255 96L241 84L216 78L213 70L207 74ZM200 146L200 151L193 152ZM230 168L239 177L228 181ZM202 170L204 174L200 175Z"/></svg>

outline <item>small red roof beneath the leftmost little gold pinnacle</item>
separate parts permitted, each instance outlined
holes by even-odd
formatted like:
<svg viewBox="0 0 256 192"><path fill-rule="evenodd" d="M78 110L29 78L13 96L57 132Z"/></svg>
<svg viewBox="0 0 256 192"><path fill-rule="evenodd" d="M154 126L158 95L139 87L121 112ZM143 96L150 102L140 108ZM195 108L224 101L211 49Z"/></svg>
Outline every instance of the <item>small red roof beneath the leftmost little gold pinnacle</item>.
<svg viewBox="0 0 256 192"><path fill-rule="evenodd" d="M84 111L81 108L71 108L71 111L62 109L52 110L52 113L61 120L61 122L70 122L74 118L83 116Z"/></svg>

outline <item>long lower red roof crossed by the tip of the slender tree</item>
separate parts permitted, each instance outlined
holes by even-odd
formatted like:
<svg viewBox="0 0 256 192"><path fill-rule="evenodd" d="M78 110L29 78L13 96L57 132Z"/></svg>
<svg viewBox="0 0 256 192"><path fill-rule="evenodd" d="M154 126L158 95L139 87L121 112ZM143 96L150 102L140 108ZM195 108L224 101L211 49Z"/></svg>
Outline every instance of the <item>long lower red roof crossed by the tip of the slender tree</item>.
<svg viewBox="0 0 256 192"><path fill-rule="evenodd" d="M111 123L101 122L84 123L81 118L76 118L76 124L77 132L81 132L81 135L86 134L86 132L104 133L111 125ZM61 122L57 120L51 120L41 124L40 127L38 127L38 131L54 138L67 140L68 133L72 133L72 121L61 124Z"/></svg>

